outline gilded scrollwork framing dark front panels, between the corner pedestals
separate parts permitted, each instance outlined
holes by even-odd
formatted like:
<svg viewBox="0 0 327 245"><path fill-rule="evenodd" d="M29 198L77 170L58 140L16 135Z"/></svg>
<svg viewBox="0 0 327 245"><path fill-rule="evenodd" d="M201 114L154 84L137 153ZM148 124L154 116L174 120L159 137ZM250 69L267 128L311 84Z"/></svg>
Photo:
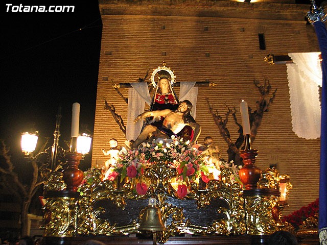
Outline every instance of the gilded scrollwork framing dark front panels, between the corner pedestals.
<svg viewBox="0 0 327 245"><path fill-rule="evenodd" d="M171 180L177 176L177 170L171 168L167 162L158 162L144 170L142 180L134 179L118 188L117 181L101 181L102 175L99 169L94 169L91 175L92 181L88 181L81 188L82 197L79 200L78 229L80 235L127 235L139 232L139 222L133 220L132 224L124 227L117 227L110 224L108 220L99 218L104 212L103 208L94 209L94 204L100 200L111 200L117 207L124 209L126 200L144 200L155 197L158 200L162 219L165 223L171 217L171 223L166 224L166 231L157 232L157 241L165 242L170 236L180 233L197 235L209 234L244 234L245 233L245 210L242 188L239 183L232 183L229 176L230 169L223 169L221 181L212 180L207 184L205 190L199 190L195 182L187 183L189 193L186 199L196 200L198 208L209 205L214 199L223 200L228 208L218 207L217 213L223 214L222 218L214 220L213 224L191 224L190 220L183 214L183 209L175 207L167 202L168 197L178 198L177 191L173 188ZM138 181L146 182L148 191L145 195L139 195L133 191ZM139 220L142 220L144 210L139 213Z"/></svg>

